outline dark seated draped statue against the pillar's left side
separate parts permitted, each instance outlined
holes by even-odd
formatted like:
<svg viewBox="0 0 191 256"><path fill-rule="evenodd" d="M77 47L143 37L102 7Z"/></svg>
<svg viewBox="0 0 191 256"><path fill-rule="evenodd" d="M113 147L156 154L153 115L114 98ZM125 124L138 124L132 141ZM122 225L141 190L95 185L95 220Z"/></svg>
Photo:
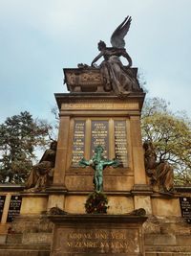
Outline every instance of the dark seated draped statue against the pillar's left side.
<svg viewBox="0 0 191 256"><path fill-rule="evenodd" d="M50 149L44 152L39 163L32 167L32 172L26 182L27 191L42 191L53 183L56 147L57 142L53 141Z"/></svg>

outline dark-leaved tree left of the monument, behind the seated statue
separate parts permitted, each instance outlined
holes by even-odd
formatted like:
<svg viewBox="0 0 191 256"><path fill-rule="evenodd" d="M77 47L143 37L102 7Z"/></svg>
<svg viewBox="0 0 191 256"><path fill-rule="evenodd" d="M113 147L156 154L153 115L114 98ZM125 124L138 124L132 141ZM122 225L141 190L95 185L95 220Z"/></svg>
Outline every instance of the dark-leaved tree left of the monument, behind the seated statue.
<svg viewBox="0 0 191 256"><path fill-rule="evenodd" d="M37 146L45 146L52 127L25 111L0 125L0 182L22 183L32 169Z"/></svg>

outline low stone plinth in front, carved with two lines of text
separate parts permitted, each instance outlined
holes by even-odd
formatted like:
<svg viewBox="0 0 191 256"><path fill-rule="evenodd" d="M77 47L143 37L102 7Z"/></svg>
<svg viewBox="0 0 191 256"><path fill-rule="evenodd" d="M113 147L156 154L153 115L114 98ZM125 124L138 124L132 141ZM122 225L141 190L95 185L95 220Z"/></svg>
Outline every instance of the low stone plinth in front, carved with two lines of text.
<svg viewBox="0 0 191 256"><path fill-rule="evenodd" d="M128 215L50 216L54 223L51 256L144 255L142 223Z"/></svg>

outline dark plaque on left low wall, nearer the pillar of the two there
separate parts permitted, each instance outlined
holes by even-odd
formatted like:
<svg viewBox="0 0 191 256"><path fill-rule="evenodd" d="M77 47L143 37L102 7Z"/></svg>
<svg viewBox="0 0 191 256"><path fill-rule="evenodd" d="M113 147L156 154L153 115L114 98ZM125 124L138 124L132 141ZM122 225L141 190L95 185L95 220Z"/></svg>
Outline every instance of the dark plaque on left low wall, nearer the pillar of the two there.
<svg viewBox="0 0 191 256"><path fill-rule="evenodd" d="M7 222L13 221L14 217L20 214L21 202L21 196L11 196Z"/></svg>

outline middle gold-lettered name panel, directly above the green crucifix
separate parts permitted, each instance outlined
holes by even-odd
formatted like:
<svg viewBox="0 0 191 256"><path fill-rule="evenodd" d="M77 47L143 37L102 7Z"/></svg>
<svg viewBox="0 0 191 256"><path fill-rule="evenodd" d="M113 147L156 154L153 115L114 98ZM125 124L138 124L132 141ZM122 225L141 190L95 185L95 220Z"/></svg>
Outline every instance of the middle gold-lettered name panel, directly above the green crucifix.
<svg viewBox="0 0 191 256"><path fill-rule="evenodd" d="M103 156L109 158L109 135L108 121L92 121L92 155L95 152L96 146L102 146L104 149Z"/></svg>

